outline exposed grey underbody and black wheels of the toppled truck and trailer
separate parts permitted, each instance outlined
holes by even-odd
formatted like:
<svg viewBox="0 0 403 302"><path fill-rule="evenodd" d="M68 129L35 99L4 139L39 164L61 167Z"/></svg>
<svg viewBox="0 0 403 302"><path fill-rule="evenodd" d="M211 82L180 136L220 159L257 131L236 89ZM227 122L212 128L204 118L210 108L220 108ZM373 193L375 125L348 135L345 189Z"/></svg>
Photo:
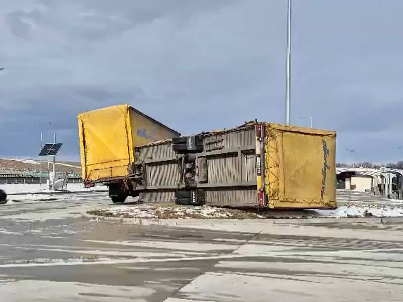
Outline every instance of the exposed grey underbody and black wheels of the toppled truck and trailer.
<svg viewBox="0 0 403 302"><path fill-rule="evenodd" d="M124 178L102 180L115 203L128 196L143 202L236 205L258 202L255 126L178 137L135 148ZM225 143L227 142L227 143Z"/></svg>

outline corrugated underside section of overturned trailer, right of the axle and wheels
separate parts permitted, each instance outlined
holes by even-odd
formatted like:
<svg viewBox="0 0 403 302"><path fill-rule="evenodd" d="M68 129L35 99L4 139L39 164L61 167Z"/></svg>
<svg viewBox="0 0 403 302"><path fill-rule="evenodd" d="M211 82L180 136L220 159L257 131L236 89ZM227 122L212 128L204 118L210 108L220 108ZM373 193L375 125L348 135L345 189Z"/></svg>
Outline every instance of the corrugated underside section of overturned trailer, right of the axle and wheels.
<svg viewBox="0 0 403 302"><path fill-rule="evenodd" d="M199 135L204 150L197 153L196 170L206 161L205 179L196 177L205 203L217 206L257 204L255 125Z"/></svg>

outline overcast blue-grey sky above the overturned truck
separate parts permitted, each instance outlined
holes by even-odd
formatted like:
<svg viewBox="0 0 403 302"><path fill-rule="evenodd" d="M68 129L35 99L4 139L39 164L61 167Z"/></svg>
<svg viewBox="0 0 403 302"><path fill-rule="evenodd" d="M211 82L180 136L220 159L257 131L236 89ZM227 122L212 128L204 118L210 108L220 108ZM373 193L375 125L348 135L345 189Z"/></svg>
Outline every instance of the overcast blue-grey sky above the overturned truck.
<svg viewBox="0 0 403 302"><path fill-rule="evenodd" d="M287 0L0 0L0 156L129 103L182 133L285 120ZM403 1L293 0L291 122L342 162L403 160ZM34 124L36 122L36 124ZM348 152L352 149L354 152Z"/></svg>

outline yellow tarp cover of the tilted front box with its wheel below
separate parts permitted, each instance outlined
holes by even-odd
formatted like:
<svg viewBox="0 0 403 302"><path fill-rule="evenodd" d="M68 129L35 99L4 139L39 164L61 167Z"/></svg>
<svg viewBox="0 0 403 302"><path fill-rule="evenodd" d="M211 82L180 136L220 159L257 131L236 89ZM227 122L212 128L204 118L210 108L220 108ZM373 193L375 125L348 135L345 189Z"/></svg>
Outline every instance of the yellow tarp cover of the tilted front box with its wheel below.
<svg viewBox="0 0 403 302"><path fill-rule="evenodd" d="M135 146L180 135L129 105L81 113L78 127L85 181L125 177Z"/></svg>

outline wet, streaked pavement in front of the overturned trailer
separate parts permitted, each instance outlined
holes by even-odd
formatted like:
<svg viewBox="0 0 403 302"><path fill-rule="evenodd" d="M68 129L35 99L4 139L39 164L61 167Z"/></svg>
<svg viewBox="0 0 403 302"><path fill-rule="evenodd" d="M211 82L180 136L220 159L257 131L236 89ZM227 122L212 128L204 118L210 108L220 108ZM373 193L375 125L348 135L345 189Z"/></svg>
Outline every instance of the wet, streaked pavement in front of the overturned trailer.
<svg viewBox="0 0 403 302"><path fill-rule="evenodd" d="M175 227L83 215L113 206L105 193L0 206L1 300L403 300L398 219Z"/></svg>

